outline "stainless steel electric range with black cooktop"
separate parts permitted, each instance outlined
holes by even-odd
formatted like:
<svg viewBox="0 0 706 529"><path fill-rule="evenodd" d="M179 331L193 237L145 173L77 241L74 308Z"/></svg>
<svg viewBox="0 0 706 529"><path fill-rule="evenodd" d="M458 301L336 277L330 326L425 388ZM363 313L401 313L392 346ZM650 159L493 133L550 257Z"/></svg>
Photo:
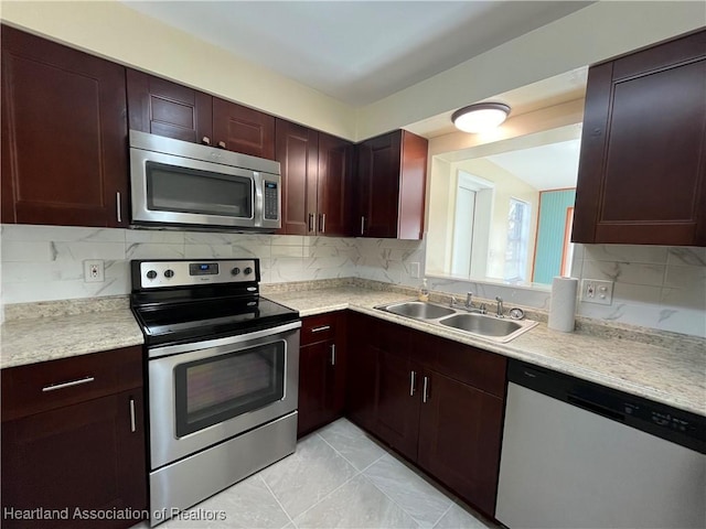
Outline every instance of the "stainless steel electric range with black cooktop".
<svg viewBox="0 0 706 529"><path fill-rule="evenodd" d="M156 526L295 451L301 321L259 295L258 259L133 260L131 273Z"/></svg>

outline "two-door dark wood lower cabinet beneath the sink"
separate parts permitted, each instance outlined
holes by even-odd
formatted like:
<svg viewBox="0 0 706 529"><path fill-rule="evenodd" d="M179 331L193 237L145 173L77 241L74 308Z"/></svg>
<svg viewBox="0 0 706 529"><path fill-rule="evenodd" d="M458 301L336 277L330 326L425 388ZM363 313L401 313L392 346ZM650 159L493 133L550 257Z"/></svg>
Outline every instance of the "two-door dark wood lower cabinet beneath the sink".
<svg viewBox="0 0 706 529"><path fill-rule="evenodd" d="M350 313L346 415L490 517L505 370L502 356Z"/></svg>

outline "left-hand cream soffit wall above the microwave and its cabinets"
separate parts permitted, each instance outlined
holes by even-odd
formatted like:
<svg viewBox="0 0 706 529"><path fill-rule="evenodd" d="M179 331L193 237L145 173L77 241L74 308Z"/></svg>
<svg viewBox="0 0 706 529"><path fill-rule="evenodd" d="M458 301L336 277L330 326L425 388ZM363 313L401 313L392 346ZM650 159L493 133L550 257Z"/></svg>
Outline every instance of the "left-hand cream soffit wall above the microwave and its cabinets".
<svg viewBox="0 0 706 529"><path fill-rule="evenodd" d="M74 47L346 139L355 109L115 1L3 1L0 17Z"/></svg>

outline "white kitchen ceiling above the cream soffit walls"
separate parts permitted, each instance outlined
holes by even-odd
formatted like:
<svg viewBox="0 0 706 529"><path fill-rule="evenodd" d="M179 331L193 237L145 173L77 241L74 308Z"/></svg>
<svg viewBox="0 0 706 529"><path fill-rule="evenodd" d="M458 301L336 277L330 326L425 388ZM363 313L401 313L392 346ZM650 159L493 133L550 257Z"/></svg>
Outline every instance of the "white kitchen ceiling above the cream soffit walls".
<svg viewBox="0 0 706 529"><path fill-rule="evenodd" d="M360 106L419 83L592 2L124 3L323 94Z"/></svg>

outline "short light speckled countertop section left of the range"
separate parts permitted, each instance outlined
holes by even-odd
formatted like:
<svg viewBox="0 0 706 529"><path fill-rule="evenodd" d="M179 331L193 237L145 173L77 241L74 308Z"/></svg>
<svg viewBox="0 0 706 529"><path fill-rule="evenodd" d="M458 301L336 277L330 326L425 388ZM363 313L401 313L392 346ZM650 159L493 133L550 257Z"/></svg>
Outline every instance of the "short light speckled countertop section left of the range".
<svg viewBox="0 0 706 529"><path fill-rule="evenodd" d="M143 343L129 309L11 320L0 326L0 367L14 367Z"/></svg>

